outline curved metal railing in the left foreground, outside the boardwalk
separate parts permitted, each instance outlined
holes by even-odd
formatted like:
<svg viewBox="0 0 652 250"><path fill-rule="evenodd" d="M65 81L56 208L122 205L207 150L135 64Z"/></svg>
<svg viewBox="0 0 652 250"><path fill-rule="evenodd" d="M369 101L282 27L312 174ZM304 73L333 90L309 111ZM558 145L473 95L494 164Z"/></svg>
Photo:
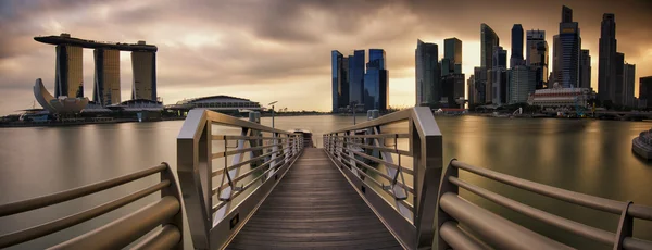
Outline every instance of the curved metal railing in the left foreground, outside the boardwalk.
<svg viewBox="0 0 652 250"><path fill-rule="evenodd" d="M122 177L74 188L34 199L17 201L0 205L0 217L10 216L36 209L46 208L68 200L93 195L113 187L121 186L143 177L161 173L161 182L151 187L141 189L126 197L103 203L92 209L58 218L38 226L29 227L14 233L0 236L0 248L5 248L29 240L34 240L59 230L75 226L83 222L92 220L102 214L116 210L121 207L137 201L156 191L161 191L161 199L120 217L95 230L61 242L54 249L120 249L124 248L151 230L161 226L160 229L150 234L137 242L135 249L153 248L183 248L183 212L180 192L173 172L167 163L153 166L143 171L128 174Z"/></svg>

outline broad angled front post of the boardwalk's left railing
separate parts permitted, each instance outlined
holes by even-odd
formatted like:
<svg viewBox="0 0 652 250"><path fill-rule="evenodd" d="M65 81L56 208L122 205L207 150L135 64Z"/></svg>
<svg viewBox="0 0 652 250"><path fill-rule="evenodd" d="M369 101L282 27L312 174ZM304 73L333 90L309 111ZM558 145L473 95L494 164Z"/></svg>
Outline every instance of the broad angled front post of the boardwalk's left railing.
<svg viewBox="0 0 652 250"><path fill-rule="evenodd" d="M196 249L210 249L212 227L212 138L205 112L191 110L177 137L177 174Z"/></svg>

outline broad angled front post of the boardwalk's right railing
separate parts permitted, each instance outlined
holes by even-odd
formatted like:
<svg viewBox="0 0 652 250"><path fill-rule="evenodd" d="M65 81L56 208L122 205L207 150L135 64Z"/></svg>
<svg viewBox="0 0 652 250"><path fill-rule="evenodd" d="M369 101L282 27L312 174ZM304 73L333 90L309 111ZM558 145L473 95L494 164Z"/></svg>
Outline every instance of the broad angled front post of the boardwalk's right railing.
<svg viewBox="0 0 652 250"><path fill-rule="evenodd" d="M436 233L435 212L443 161L442 136L429 108L414 108L408 124L414 164L416 245L417 248L430 248Z"/></svg>

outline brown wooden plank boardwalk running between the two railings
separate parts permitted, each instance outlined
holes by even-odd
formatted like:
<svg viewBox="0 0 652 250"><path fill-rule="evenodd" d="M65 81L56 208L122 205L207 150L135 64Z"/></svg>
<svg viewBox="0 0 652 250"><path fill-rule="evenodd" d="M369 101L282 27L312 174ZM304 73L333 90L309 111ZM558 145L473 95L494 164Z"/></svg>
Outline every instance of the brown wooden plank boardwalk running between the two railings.
<svg viewBox="0 0 652 250"><path fill-rule="evenodd" d="M323 149L303 155L227 249L402 249Z"/></svg>

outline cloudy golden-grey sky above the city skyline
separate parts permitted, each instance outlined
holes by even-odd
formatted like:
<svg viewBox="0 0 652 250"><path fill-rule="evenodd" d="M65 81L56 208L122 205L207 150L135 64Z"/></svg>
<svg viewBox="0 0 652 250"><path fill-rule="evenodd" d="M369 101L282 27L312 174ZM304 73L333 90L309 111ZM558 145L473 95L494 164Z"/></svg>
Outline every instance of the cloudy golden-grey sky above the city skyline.
<svg viewBox="0 0 652 250"><path fill-rule="evenodd" d="M463 42L466 78L480 64L480 24L500 37L510 57L511 28L559 33L562 4L579 22L598 88L598 40L603 13L616 16L616 39L639 77L652 75L652 1L427 0L9 0L0 1L0 115L34 105L33 86L54 88L54 47L35 36L73 37L159 47L158 95L165 104L227 95L288 110L328 111L330 51L386 50L389 104L414 103L416 40ZM92 50L84 51L85 95L92 93ZM129 52L121 52L122 100L130 97ZM36 108L38 103L36 103Z"/></svg>

